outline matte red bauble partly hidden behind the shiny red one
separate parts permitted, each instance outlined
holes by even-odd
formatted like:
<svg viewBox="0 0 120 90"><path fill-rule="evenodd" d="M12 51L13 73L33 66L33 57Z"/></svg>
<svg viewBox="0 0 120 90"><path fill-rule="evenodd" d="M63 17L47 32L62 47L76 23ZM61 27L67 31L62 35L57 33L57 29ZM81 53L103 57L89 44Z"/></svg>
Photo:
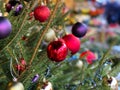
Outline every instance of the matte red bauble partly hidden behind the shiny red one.
<svg viewBox="0 0 120 90"><path fill-rule="evenodd" d="M73 34L68 34L63 37L68 49L71 51L71 54L75 54L80 49L80 40L75 37Z"/></svg>

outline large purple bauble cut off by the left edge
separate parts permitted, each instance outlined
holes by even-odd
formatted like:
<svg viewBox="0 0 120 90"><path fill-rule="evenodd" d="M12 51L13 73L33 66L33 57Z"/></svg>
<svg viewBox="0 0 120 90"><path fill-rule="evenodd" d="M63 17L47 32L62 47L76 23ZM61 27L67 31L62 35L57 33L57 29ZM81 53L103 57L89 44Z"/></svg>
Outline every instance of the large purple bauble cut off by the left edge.
<svg viewBox="0 0 120 90"><path fill-rule="evenodd" d="M12 25L8 19L0 16L0 39L6 38L12 31Z"/></svg>

